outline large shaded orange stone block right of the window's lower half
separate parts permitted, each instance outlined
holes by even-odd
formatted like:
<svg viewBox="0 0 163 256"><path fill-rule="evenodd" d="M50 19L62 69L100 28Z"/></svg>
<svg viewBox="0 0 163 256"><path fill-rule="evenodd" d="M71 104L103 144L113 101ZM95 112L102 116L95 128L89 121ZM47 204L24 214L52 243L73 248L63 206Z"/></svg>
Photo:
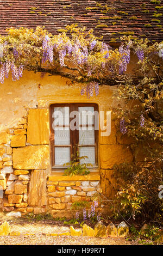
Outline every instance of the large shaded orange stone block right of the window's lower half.
<svg viewBox="0 0 163 256"><path fill-rule="evenodd" d="M111 169L114 164L133 161L133 156L127 145L100 145L99 152L103 169Z"/></svg>

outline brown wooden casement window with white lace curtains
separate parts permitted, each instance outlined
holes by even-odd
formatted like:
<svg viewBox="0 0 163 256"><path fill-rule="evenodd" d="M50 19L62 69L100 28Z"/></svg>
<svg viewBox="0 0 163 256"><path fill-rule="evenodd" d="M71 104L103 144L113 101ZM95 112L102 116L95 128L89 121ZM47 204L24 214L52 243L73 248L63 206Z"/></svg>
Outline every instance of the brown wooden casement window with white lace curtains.
<svg viewBox="0 0 163 256"><path fill-rule="evenodd" d="M81 160L81 163L91 163L93 168L98 167L97 113L98 106L91 103L51 105L52 168L66 168L64 164L72 160L75 147L80 156L88 157Z"/></svg>

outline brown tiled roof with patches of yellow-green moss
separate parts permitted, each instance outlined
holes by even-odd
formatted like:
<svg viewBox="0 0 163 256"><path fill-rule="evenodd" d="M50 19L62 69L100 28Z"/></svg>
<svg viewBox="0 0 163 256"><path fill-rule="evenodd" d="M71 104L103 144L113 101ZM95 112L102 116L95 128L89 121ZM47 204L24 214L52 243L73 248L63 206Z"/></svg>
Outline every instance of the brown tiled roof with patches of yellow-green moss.
<svg viewBox="0 0 163 256"><path fill-rule="evenodd" d="M71 23L94 29L105 42L123 34L163 40L163 0L25 0L0 1L0 34L8 27L45 26L58 34Z"/></svg>

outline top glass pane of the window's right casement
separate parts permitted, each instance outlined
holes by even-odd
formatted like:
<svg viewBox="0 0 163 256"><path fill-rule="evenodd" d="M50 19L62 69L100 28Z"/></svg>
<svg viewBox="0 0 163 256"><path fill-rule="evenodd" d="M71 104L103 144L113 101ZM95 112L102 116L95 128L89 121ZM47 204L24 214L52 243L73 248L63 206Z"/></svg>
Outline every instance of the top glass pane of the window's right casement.
<svg viewBox="0 0 163 256"><path fill-rule="evenodd" d="M94 107L79 107L80 125L94 124Z"/></svg>

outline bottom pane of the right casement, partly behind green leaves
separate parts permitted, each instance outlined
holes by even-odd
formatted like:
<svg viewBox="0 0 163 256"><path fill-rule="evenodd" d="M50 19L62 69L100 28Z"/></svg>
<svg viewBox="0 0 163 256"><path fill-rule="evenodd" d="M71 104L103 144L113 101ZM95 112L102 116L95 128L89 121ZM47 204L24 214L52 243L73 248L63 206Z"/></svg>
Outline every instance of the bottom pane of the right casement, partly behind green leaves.
<svg viewBox="0 0 163 256"><path fill-rule="evenodd" d="M87 156L88 159L80 160L80 163L92 163L95 164L95 147L80 147L79 148L80 156Z"/></svg>

